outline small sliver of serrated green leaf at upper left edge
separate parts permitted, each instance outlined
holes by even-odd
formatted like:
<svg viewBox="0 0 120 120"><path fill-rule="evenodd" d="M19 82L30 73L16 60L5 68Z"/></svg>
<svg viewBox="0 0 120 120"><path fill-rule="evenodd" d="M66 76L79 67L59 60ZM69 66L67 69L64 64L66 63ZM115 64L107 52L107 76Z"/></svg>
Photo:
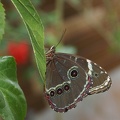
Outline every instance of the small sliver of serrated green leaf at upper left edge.
<svg viewBox="0 0 120 120"><path fill-rule="evenodd" d="M0 41L4 34L4 28L5 28L5 10L2 6L2 3L0 2Z"/></svg>

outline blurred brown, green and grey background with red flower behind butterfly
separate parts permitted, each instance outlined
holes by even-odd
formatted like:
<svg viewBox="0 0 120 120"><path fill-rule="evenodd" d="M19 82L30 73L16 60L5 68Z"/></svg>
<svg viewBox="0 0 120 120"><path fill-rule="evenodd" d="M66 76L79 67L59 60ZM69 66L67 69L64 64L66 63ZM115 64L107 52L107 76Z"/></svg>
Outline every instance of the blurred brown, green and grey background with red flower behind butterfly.
<svg viewBox="0 0 120 120"><path fill-rule="evenodd" d="M68 113L49 108L39 80L25 26L9 0L0 55L13 55L18 81L27 99L26 120L120 120L120 1L119 0L31 0L45 30L45 48L56 45L63 31L59 52L77 54L102 66L112 78L109 91L86 97Z"/></svg>

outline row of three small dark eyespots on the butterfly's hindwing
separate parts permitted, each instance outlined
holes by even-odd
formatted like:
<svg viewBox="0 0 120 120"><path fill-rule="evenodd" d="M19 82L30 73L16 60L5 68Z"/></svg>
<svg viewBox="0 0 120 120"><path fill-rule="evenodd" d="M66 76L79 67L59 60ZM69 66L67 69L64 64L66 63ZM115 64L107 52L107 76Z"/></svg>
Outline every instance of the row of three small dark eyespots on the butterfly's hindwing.
<svg viewBox="0 0 120 120"><path fill-rule="evenodd" d="M54 97L56 94L61 95L64 92L64 90L69 91L69 89L70 89L70 85L65 84L63 87L61 86L61 87L56 88L55 90L51 90L50 91L50 96Z"/></svg>

